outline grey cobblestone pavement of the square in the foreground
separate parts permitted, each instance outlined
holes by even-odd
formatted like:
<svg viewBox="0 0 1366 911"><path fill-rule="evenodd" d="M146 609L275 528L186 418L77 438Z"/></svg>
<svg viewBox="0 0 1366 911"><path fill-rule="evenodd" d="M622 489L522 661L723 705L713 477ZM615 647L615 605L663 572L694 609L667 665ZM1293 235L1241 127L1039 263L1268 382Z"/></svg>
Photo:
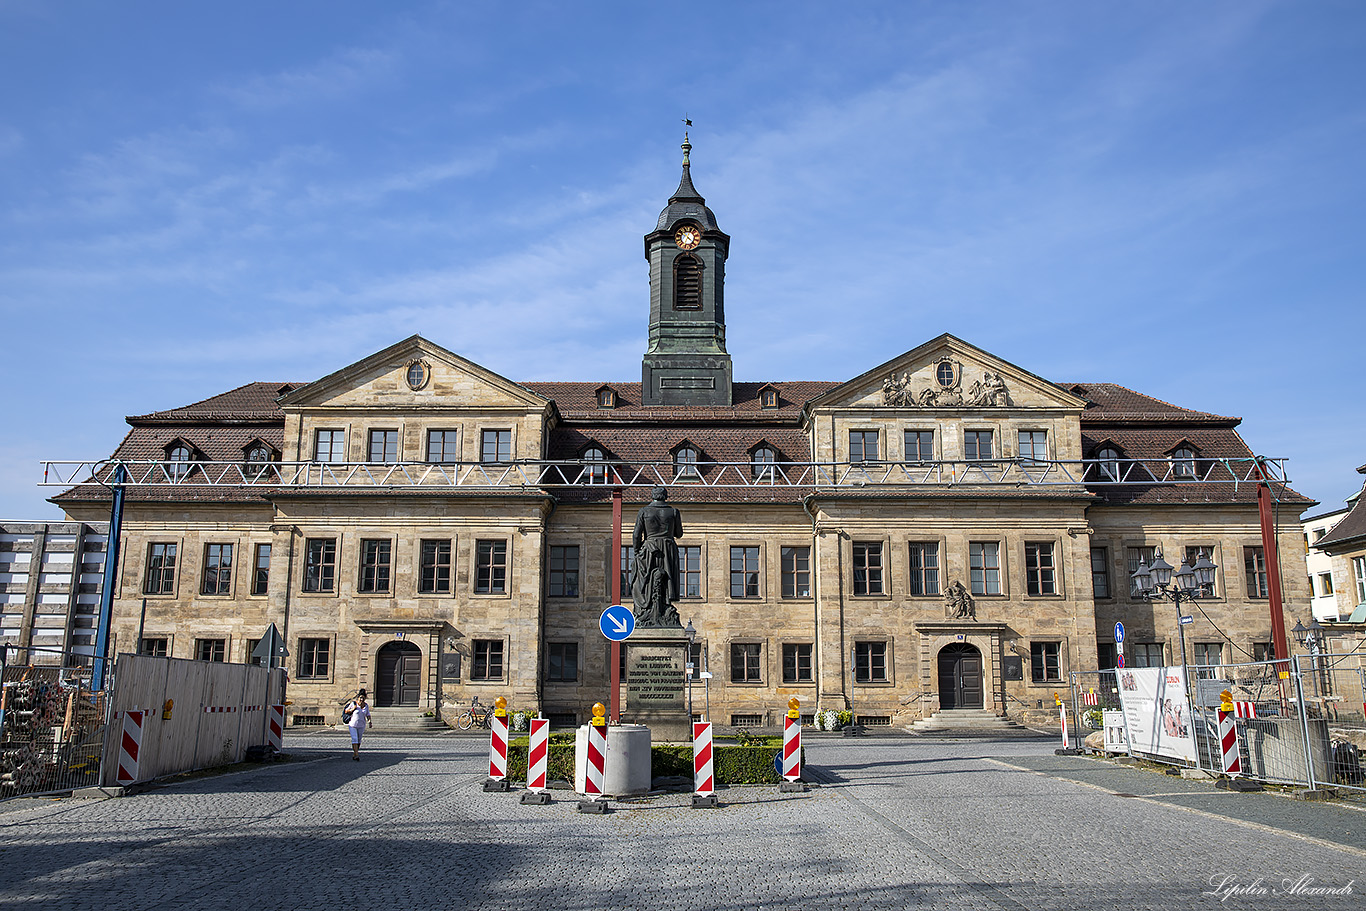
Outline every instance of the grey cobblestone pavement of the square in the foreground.
<svg viewBox="0 0 1366 911"><path fill-rule="evenodd" d="M1355 911L1366 891L1366 811L1044 740L810 738L807 794L729 788L720 810L672 794L604 817L563 791L484 794L473 736L372 735L361 762L344 735L285 746L299 762L0 804L0 908Z"/></svg>

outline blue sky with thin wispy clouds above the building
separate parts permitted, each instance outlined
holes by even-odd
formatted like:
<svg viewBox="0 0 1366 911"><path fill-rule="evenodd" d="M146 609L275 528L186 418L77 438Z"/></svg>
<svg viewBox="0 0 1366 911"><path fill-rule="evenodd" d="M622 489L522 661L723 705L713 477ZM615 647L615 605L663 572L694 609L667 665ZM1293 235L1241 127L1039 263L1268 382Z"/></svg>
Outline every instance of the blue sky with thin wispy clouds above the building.
<svg viewBox="0 0 1366 911"><path fill-rule="evenodd" d="M415 332L639 380L684 113L738 380L952 332L1359 488L1361 3L0 0L0 518Z"/></svg>

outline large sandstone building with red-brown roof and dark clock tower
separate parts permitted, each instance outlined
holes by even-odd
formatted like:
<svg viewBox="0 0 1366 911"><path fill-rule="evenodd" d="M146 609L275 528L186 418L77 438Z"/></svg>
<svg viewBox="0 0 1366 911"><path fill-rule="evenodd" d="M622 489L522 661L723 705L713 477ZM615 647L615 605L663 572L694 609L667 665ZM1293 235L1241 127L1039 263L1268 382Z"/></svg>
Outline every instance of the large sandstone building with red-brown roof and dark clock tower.
<svg viewBox="0 0 1366 911"><path fill-rule="evenodd" d="M1116 620L1130 664L1177 662L1176 611L1130 593L1157 552L1220 567L1193 661L1268 651L1238 418L1050 382L951 335L846 382L736 382L728 247L684 156L645 238L642 382L515 382L414 336L311 382L128 418L119 642L143 598L142 646L182 657L242 661L276 623L296 723L335 720L358 686L381 706L503 694L582 721L608 688L612 488L628 545L663 479L723 724L777 724L791 695L881 724L1018 713L1115 667ZM53 503L108 518L96 483ZM1305 605L1299 527L1279 546Z"/></svg>

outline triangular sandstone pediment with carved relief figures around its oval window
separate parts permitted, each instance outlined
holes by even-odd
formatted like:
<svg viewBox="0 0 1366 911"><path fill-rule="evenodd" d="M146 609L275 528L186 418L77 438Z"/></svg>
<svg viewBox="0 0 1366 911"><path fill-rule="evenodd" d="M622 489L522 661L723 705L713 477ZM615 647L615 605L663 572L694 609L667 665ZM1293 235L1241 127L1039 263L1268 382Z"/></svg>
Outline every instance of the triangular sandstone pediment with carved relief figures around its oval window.
<svg viewBox="0 0 1366 911"><path fill-rule="evenodd" d="M1086 400L945 333L835 387L806 407L1081 411Z"/></svg>

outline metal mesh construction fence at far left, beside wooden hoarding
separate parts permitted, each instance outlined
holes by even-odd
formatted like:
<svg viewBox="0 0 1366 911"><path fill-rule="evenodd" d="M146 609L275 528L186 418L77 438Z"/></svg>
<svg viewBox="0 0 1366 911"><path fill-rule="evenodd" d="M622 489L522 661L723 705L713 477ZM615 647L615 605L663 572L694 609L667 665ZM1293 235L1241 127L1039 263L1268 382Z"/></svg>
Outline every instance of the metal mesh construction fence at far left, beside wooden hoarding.
<svg viewBox="0 0 1366 911"><path fill-rule="evenodd" d="M97 785L107 697L90 690L93 658L41 649L11 649L8 657L0 675L0 799Z"/></svg>

